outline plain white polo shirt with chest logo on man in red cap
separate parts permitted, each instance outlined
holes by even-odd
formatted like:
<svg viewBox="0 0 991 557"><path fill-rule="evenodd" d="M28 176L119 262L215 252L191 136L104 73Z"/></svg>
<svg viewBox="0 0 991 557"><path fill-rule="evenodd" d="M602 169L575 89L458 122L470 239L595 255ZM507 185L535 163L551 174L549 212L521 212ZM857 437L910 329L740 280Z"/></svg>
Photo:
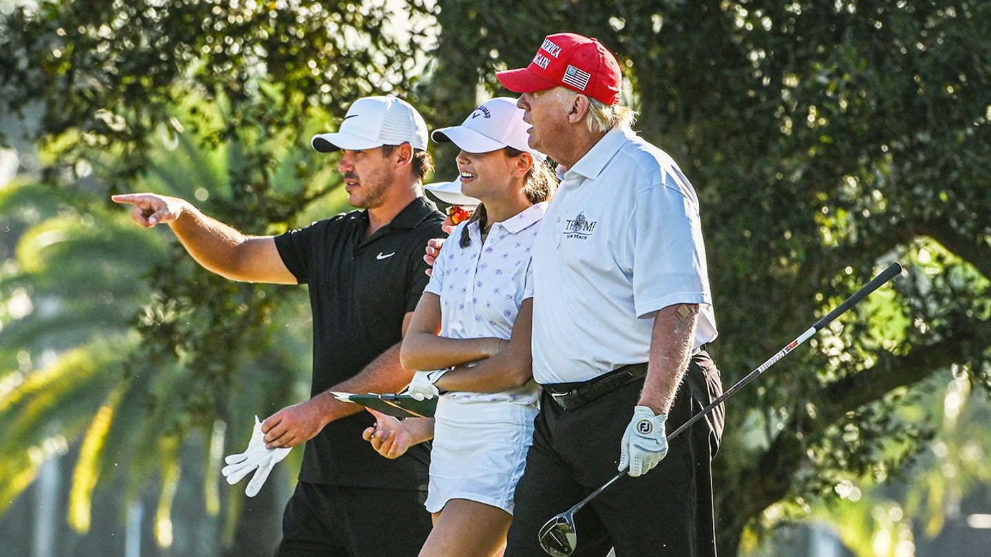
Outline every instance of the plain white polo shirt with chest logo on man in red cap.
<svg viewBox="0 0 991 557"><path fill-rule="evenodd" d="M701 305L716 338L699 200L666 153L613 130L564 174L533 251L533 378L588 381L650 355L653 316Z"/></svg>

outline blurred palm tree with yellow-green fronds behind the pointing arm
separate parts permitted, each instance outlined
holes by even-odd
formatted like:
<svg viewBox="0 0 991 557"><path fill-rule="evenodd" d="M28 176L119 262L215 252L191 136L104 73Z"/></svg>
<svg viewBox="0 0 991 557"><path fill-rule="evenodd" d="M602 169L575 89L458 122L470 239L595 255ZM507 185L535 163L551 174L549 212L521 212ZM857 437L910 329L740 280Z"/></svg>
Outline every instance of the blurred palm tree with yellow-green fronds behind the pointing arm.
<svg viewBox="0 0 991 557"><path fill-rule="evenodd" d="M193 133L180 121L194 122ZM289 226L294 214L286 207L306 209L302 218L312 220L340 203L323 195L335 183L303 184L310 175L297 171L308 156L302 150L254 167L259 130L204 142L228 124L222 102L190 99L160 134L137 189L196 199L261 233ZM114 158L91 164L99 175ZM255 203L262 197L252 190L262 188L285 202ZM255 414L308 394L305 292L213 276L166 231L136 227L106 199L99 183L69 191L23 182L0 191L0 226L13 231L3 237L12 257L0 275L0 513L46 459L71 450L68 522L79 533L102 514L93 504L113 485L124 490L124 504L158 500L156 536L168 545L179 479L192 475L202 476L202 506L225 523L227 544L271 543L275 524L263 532L238 527L243 489L220 489L220 459L243 449ZM297 468L300 456L295 451L281 469ZM272 496L287 497L290 477L270 480L282 487L266 494L277 507L268 514L279 514L282 501ZM150 484L158 486L154 497ZM269 539L253 541L252 533Z"/></svg>

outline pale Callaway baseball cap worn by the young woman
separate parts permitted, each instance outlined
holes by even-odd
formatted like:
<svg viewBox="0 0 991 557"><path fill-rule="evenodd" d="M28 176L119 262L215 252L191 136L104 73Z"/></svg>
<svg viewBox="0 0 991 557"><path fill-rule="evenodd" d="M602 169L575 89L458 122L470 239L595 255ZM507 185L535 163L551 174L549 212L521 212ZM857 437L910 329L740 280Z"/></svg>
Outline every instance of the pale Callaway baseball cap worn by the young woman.
<svg viewBox="0 0 991 557"><path fill-rule="evenodd" d="M430 137L437 143L451 142L467 153L511 147L543 161L547 156L527 144L529 128L523 121L523 109L516 107L516 99L496 97L472 111L462 125L434 130Z"/></svg>

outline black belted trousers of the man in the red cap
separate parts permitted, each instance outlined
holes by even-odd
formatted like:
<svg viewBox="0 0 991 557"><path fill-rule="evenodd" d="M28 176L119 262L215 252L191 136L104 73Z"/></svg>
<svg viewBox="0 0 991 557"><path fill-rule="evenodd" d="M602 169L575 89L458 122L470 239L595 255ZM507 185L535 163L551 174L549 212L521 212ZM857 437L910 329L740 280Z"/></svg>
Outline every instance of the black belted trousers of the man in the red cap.
<svg viewBox="0 0 991 557"><path fill-rule="evenodd" d="M526 471L516 486L505 557L545 557L540 527L601 487L617 472L619 442L643 381L564 410L545 391ZM692 358L666 423L670 434L722 393L712 358ZM716 555L712 461L724 408L671 439L668 454L638 478L619 479L575 515L575 557L710 557Z"/></svg>

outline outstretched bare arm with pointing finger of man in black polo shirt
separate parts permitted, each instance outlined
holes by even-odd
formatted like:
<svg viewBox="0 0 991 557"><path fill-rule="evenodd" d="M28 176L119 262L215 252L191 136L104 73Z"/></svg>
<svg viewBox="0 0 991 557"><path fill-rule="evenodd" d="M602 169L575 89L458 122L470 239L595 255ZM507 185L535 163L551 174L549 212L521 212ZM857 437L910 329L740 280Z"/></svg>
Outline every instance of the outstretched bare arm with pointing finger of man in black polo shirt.
<svg viewBox="0 0 991 557"><path fill-rule="evenodd" d="M111 199L134 205L131 218L140 226L167 224L189 255L217 275L250 282L296 283L272 236L245 236L178 197L129 193Z"/></svg>

